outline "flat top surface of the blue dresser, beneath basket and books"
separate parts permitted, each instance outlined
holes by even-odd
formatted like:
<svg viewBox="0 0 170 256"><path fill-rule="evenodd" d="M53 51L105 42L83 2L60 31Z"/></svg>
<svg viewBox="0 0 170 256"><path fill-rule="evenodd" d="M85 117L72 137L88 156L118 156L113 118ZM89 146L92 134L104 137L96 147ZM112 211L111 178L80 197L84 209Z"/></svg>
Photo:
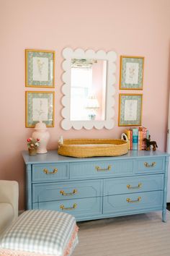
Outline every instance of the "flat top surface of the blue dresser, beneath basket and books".
<svg viewBox="0 0 170 256"><path fill-rule="evenodd" d="M82 162L82 161L112 161L112 160L122 160L130 158L147 158L147 157L158 157L158 156L169 156L166 152L156 151L146 151L146 150L129 150L127 154L120 156L104 156L104 157L94 157L94 158L72 158L68 156L58 155L57 150L49 150L45 154L29 155L28 151L22 151L22 156L24 158L24 163L66 163L66 162Z"/></svg>

